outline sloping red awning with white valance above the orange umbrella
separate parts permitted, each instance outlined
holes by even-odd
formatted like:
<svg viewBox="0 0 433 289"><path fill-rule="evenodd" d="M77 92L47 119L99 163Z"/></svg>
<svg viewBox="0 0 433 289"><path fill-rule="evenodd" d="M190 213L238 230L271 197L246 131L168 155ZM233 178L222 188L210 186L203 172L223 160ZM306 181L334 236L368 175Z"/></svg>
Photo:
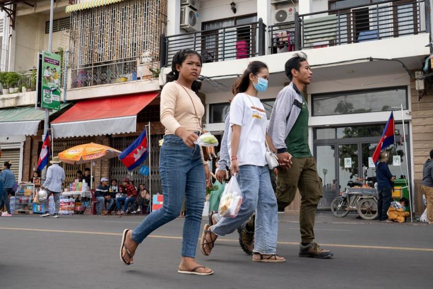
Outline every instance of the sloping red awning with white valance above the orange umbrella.
<svg viewBox="0 0 433 289"><path fill-rule="evenodd" d="M137 114L159 92L86 99L51 122L54 138L136 132Z"/></svg>

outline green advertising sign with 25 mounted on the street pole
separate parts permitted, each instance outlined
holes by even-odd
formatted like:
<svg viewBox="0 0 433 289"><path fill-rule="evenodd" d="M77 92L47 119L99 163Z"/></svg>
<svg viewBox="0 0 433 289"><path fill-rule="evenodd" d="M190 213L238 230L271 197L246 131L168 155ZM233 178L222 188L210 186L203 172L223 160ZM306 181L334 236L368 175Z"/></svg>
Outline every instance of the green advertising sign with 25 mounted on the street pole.
<svg viewBox="0 0 433 289"><path fill-rule="evenodd" d="M42 51L42 108L60 110L60 55Z"/></svg>

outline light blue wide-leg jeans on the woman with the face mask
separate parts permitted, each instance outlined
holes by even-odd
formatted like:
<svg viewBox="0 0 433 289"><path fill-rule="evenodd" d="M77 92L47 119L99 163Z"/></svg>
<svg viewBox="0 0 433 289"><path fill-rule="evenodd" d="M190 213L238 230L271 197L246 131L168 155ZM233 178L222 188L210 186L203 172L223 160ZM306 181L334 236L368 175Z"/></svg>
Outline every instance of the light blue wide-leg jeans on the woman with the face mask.
<svg viewBox="0 0 433 289"><path fill-rule="evenodd" d="M256 211L254 252L275 254L277 252L278 206L267 166L239 166L236 176L243 193L242 205L235 218L221 218L211 230L224 236L236 230Z"/></svg>

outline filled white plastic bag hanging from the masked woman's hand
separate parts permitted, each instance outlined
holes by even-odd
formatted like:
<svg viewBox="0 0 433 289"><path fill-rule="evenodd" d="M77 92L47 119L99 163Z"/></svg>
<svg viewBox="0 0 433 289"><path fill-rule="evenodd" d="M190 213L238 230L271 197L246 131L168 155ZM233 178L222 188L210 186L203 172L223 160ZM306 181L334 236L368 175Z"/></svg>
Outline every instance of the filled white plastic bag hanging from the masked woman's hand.
<svg viewBox="0 0 433 289"><path fill-rule="evenodd" d="M221 217L234 218L239 213L240 205L242 204L243 194L236 180L236 175L233 175L221 195L220 206L218 213Z"/></svg>

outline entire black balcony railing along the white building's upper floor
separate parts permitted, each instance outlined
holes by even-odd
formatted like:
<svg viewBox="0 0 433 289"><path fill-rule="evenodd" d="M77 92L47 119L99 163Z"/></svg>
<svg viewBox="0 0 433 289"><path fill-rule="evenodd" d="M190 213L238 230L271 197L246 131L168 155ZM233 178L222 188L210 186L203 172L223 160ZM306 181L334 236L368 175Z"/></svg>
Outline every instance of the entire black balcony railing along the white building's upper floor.
<svg viewBox="0 0 433 289"><path fill-rule="evenodd" d="M212 31L161 37L160 66L171 65L174 54L185 48L198 51L203 62L261 56L358 43L428 32L429 1L389 0L309 14L295 14L294 21L275 25L261 19ZM267 32L267 33L266 33Z"/></svg>

